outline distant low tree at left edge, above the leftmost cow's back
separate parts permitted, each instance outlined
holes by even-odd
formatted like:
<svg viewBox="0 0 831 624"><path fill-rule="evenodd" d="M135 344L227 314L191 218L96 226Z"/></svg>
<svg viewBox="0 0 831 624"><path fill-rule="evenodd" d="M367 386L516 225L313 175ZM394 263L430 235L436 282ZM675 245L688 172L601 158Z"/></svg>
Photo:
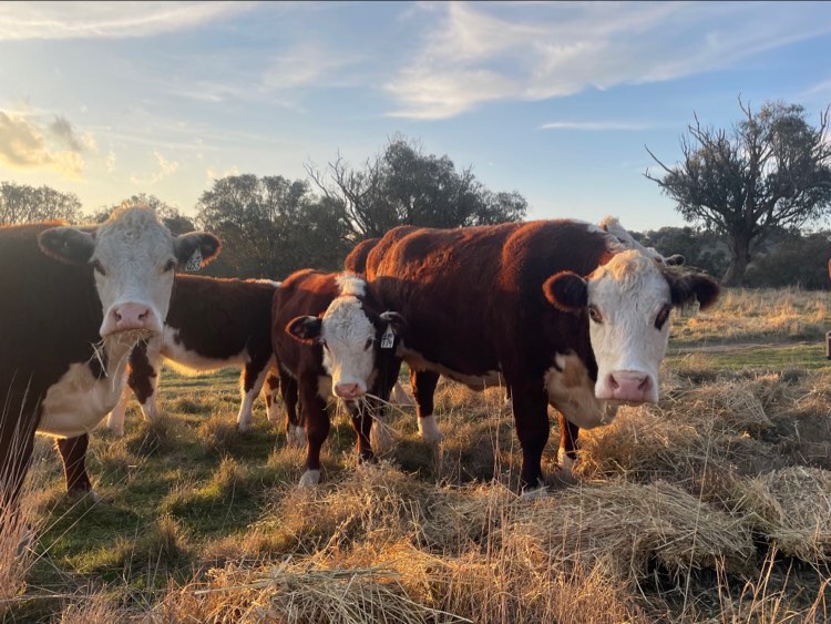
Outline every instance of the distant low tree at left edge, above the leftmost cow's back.
<svg viewBox="0 0 831 624"><path fill-rule="evenodd" d="M78 223L81 202L73 193L61 193L49 186L0 183L0 225L63 219Z"/></svg>

